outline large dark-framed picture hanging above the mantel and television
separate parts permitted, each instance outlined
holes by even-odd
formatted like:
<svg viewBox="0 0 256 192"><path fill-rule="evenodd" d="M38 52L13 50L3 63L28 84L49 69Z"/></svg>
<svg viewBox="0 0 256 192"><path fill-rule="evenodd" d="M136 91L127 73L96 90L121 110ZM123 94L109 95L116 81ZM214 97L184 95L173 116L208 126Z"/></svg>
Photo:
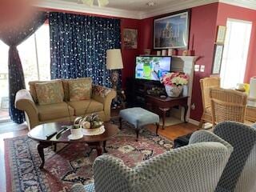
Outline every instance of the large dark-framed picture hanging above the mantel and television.
<svg viewBox="0 0 256 192"><path fill-rule="evenodd" d="M154 19L154 49L187 48L190 12Z"/></svg>

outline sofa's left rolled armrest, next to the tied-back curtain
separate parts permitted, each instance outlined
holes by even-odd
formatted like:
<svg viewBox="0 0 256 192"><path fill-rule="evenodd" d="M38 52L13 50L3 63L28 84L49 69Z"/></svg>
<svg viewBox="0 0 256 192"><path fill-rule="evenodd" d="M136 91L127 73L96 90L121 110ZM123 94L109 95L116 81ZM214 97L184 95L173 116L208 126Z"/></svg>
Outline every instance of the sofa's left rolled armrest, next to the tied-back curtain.
<svg viewBox="0 0 256 192"><path fill-rule="evenodd" d="M29 128L38 125L38 109L29 90L18 90L15 97L15 107L26 112L28 118L26 121Z"/></svg>

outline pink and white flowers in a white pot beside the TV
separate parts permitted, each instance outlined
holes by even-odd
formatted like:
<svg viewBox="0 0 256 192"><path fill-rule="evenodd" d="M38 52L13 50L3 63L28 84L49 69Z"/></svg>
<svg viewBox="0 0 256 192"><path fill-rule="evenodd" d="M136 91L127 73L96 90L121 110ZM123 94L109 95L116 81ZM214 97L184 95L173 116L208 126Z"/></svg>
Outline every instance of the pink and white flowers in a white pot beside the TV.
<svg viewBox="0 0 256 192"><path fill-rule="evenodd" d="M165 74L161 82L166 87L166 94L171 98L177 98L183 90L183 86L188 83L187 74L180 72L172 72Z"/></svg>

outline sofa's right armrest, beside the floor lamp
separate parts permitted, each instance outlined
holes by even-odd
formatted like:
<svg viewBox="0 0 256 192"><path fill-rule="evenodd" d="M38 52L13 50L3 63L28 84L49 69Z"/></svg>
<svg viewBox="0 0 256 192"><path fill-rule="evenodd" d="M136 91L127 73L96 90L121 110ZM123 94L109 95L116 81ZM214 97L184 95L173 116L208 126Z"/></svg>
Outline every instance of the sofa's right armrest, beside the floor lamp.
<svg viewBox="0 0 256 192"><path fill-rule="evenodd" d="M101 102L103 104L105 122L110 120L111 102L116 96L117 96L117 92L113 89L106 88L104 86L93 85L92 98L97 102Z"/></svg>

